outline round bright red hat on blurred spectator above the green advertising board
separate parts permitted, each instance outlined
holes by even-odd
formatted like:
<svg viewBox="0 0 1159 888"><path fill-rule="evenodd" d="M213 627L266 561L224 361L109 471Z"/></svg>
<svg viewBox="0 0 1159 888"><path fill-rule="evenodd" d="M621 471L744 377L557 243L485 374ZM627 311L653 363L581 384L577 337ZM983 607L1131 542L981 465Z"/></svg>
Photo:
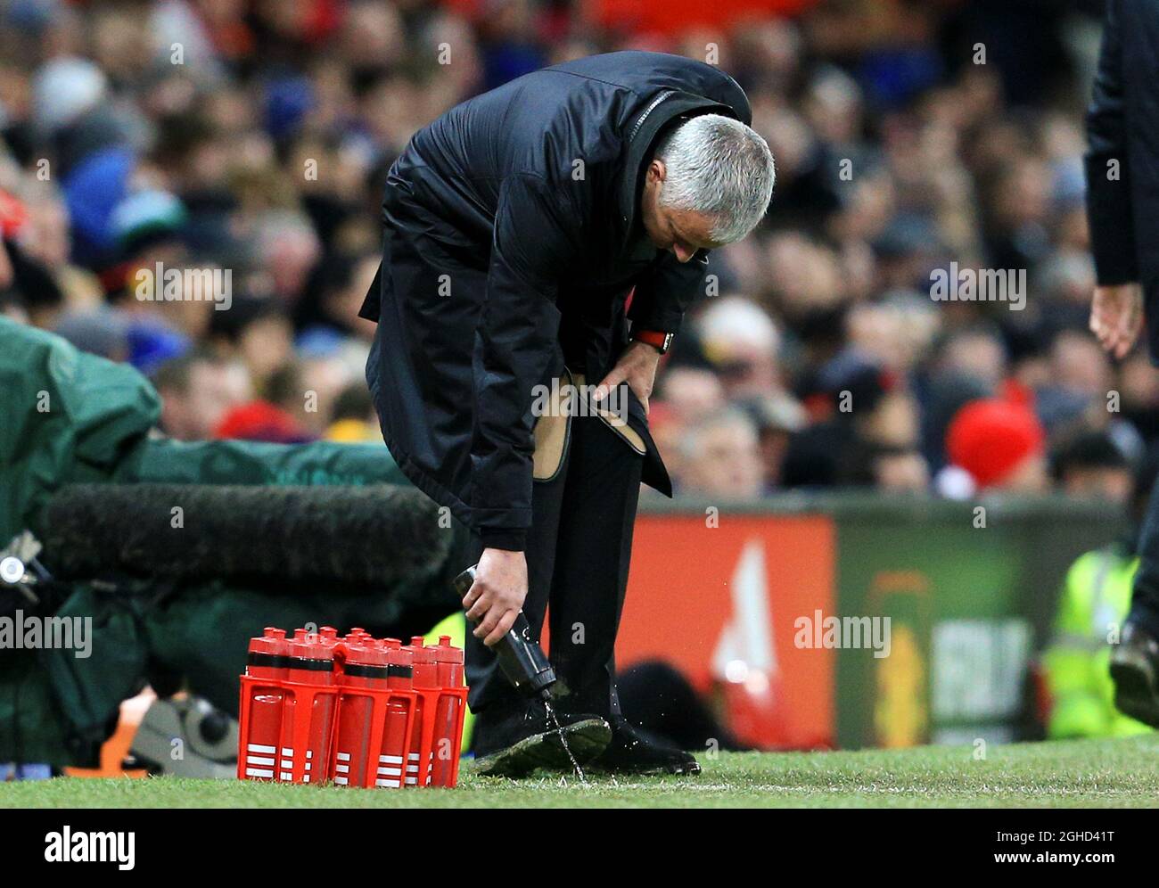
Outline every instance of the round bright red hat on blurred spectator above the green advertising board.
<svg viewBox="0 0 1159 888"><path fill-rule="evenodd" d="M1043 451L1045 434L1023 403L983 399L954 415L946 432L950 463L964 468L978 487L1001 483L1022 461Z"/></svg>

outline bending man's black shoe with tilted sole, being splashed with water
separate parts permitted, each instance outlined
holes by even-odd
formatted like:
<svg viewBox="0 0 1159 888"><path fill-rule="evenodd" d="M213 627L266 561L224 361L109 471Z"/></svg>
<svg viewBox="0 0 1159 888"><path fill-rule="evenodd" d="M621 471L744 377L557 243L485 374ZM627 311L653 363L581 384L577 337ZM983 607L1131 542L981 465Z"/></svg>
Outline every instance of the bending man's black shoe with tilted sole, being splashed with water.
<svg viewBox="0 0 1159 888"><path fill-rule="evenodd" d="M583 767L604 751L612 738L612 729L598 715L557 714L560 733L549 725L540 705L529 708L526 718L504 722L487 731L482 744L476 743L479 773L486 777L526 777L538 767L571 773L571 758Z"/></svg>

